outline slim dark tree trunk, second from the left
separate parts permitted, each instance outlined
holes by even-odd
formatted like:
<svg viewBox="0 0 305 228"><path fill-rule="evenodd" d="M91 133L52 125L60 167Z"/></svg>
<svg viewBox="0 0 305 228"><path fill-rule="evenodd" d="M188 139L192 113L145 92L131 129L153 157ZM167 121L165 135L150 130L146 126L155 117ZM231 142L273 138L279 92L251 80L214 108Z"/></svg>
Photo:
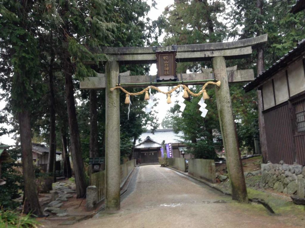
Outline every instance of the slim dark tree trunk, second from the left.
<svg viewBox="0 0 305 228"><path fill-rule="evenodd" d="M51 32L51 42L52 42L52 32ZM49 89L50 89L50 151L48 155L48 165L47 165L47 172L53 173L54 182L56 182L56 175L55 175L55 162L56 162L56 132L55 132L55 125L56 125L56 117L55 117L55 95L54 95L54 77L53 77L53 63L55 59L55 53L53 47L51 47L51 60L49 66Z"/></svg>

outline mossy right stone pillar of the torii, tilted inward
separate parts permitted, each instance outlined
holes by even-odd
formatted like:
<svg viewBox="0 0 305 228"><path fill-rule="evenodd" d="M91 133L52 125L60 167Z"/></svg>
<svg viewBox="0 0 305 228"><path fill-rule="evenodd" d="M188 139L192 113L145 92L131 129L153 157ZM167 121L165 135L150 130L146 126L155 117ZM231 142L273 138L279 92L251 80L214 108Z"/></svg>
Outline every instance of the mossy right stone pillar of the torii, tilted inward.
<svg viewBox="0 0 305 228"><path fill-rule="evenodd" d="M215 86L218 118L221 135L226 153L226 161L230 183L232 187L232 199L239 202L248 202L247 189L242 161L233 117L231 96L228 84L228 76L224 57L217 56L212 59L214 77L221 81L221 86Z"/></svg>

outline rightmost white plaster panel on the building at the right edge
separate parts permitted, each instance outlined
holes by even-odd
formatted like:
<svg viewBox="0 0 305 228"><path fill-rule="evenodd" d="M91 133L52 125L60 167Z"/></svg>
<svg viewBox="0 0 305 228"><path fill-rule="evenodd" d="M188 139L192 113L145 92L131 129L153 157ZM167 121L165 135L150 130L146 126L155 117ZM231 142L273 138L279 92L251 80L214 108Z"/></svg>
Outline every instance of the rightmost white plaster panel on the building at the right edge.
<svg viewBox="0 0 305 228"><path fill-rule="evenodd" d="M305 75L302 59L292 63L288 70L290 96L305 90Z"/></svg>

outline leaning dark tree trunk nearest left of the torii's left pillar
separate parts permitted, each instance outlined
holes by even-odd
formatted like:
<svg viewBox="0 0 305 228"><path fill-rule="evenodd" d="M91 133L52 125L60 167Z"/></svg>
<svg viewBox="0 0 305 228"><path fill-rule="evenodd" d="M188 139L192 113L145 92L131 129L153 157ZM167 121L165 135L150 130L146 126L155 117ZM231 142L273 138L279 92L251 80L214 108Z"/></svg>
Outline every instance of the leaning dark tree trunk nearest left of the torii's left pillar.
<svg viewBox="0 0 305 228"><path fill-rule="evenodd" d="M81 157L81 141L79 137L76 109L74 103L74 91L72 82L72 63L70 56L64 58L64 75L66 86L66 102L68 107L69 130L71 139L71 155L75 173L75 184L77 198L84 197L86 194L87 180L84 170L84 162Z"/></svg>

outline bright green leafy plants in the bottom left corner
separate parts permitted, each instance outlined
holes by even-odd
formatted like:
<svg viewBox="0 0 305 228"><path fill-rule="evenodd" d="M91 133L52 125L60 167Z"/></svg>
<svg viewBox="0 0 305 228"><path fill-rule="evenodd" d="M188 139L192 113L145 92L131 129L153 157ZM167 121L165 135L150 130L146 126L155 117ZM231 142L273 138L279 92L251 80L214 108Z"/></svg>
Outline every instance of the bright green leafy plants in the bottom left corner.
<svg viewBox="0 0 305 228"><path fill-rule="evenodd" d="M14 211L0 210L0 228L36 228L39 223L27 215L20 214Z"/></svg>

